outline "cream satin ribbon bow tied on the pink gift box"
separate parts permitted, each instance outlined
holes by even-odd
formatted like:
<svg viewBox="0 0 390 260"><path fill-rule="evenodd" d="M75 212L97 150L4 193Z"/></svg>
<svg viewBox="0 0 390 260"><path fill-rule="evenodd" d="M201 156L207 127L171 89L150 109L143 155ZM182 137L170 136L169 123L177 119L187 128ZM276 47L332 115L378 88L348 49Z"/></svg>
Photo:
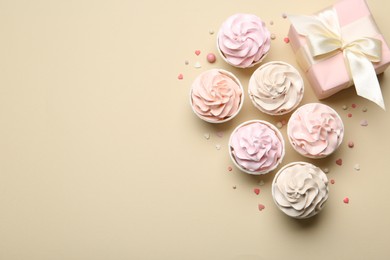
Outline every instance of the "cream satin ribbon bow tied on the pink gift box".
<svg viewBox="0 0 390 260"><path fill-rule="evenodd" d="M306 36L313 58L326 58L343 52L356 92L385 109L382 92L372 62L382 59L382 41L372 37L344 39L337 13L328 9L317 16L289 16L296 31Z"/></svg>

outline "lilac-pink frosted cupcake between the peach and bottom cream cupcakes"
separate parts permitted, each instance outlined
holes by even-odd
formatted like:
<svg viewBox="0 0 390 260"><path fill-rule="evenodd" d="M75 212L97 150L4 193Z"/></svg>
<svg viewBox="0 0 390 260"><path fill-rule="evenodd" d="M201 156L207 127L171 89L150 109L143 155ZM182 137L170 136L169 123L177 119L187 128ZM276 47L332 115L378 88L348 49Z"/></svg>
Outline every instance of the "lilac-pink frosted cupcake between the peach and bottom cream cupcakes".
<svg viewBox="0 0 390 260"><path fill-rule="evenodd" d="M284 156L284 140L279 130L262 120L247 121L232 132L229 152L242 171L260 175L274 170Z"/></svg>

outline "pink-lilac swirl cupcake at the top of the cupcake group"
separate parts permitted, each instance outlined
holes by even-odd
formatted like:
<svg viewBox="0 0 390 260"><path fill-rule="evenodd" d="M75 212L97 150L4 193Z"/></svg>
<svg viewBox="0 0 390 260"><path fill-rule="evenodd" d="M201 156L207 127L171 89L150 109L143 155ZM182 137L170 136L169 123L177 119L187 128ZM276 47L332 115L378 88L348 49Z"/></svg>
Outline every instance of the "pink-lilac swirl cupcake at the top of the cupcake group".
<svg viewBox="0 0 390 260"><path fill-rule="evenodd" d="M221 26L217 49L221 57L238 68L249 68L261 62L271 46L265 23L253 14L235 14Z"/></svg>

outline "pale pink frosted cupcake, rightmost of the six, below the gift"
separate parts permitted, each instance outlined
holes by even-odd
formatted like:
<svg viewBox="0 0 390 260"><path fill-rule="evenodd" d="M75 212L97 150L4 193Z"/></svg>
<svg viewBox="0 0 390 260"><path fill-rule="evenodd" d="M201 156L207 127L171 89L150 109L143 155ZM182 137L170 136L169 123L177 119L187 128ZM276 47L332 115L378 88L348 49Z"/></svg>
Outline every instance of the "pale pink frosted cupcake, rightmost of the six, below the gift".
<svg viewBox="0 0 390 260"><path fill-rule="evenodd" d="M306 104L298 108L287 125L293 148L308 158L332 154L343 141L344 125L340 116L327 105Z"/></svg>

